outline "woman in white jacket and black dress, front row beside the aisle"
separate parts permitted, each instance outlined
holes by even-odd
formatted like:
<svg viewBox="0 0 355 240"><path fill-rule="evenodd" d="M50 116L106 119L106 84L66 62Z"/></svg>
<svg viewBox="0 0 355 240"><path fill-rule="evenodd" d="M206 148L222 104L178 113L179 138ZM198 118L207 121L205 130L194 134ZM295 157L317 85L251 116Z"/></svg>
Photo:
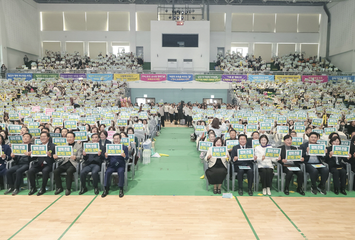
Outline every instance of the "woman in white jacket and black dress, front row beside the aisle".
<svg viewBox="0 0 355 240"><path fill-rule="evenodd" d="M213 141L214 147L222 147L223 139L221 137L216 137ZM227 152L227 158L229 158ZM228 160L225 157L215 158L212 157L212 147L208 150L205 161L208 162L208 169L206 170L206 177L210 184L213 184L213 193L221 194L221 185L223 180L227 176L227 163Z"/></svg>

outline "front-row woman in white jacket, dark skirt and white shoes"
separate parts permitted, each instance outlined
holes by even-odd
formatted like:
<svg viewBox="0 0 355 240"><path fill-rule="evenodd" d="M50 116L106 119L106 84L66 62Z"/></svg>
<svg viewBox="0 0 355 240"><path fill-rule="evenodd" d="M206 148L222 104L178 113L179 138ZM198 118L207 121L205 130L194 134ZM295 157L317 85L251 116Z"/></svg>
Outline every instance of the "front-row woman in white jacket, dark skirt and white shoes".
<svg viewBox="0 0 355 240"><path fill-rule="evenodd" d="M258 168L259 168L259 175L261 179L261 183L263 185L263 194L266 195L271 195L270 188L272 186L272 178L274 177L274 167L272 166L272 162L276 160L280 160L281 158L279 157L278 159L271 158L271 157L265 157L266 153L266 148L271 148L270 145L267 145L269 139L266 137L266 135L262 135L259 138L260 146L257 146L255 148L255 156L257 156L256 161L258 162Z"/></svg>

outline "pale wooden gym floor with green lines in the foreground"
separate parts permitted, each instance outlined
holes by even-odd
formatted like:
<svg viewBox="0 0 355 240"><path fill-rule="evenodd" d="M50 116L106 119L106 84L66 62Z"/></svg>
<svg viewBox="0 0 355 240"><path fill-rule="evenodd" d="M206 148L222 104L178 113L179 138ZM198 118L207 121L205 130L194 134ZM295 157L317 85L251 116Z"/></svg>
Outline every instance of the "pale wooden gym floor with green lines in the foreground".
<svg viewBox="0 0 355 240"><path fill-rule="evenodd" d="M353 240L353 198L1 195L0 239Z"/></svg>

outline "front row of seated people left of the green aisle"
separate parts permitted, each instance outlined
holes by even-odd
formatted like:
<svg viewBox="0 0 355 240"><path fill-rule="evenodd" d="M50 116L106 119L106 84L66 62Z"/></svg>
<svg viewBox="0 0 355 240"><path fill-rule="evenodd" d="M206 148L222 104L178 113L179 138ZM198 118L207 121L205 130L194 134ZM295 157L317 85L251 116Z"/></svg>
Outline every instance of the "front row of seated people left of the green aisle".
<svg viewBox="0 0 355 240"><path fill-rule="evenodd" d="M25 128L23 128L25 129ZM128 137L126 133L116 133L113 135L113 143L120 144L122 137ZM30 192L28 195L33 195L37 192L36 184L35 184L35 174L38 172L42 172L42 186L37 192L37 196L40 196L46 192L46 185L50 178L50 173L53 171L53 164L59 163L59 166L55 168L53 171L53 178L56 185L56 191L54 192L55 195L63 192L62 180L61 180L61 173L66 174L66 192L65 195L71 194L71 184L73 180L73 174L76 172L77 165L80 164L80 160L83 156L83 161L85 163L83 169L80 172L80 182L81 182L81 190L79 195L84 194L88 191L86 188L86 179L88 173L91 172L91 176L93 179L93 187L94 193L97 195L99 194L98 183L100 180L100 171L103 161L106 161L107 169L104 178L104 192L102 197L106 197L109 191L109 182L110 177L113 172L118 173L119 178L119 188L120 193L119 196L124 196L124 171L125 171L125 164L126 161L129 159L129 154L132 153L132 148L127 148L126 146L123 147L123 153L121 155L111 156L106 153L106 141L101 142L100 137L98 134L93 134L91 136L91 141L93 143L100 143L100 151L98 154L87 154L83 151L83 147L80 143L75 142L75 134L73 132L68 132L66 134L67 144L65 146L72 146L73 148L73 155L70 157L64 157L63 159L60 158L58 155L55 154L55 145L50 141L50 134L47 131L42 131L40 134L41 144L47 145L48 152L46 156L39 156L39 157L32 157L32 152L25 152L24 156L15 155L11 153L11 148L9 145L4 144L4 137L0 135L0 144L2 147L2 151L4 154L1 154L0 157L2 160L14 160L13 165L6 171L6 177L9 184L9 189L4 192L4 194L17 195L20 189L20 184L23 179L23 173L26 171L28 174L28 182L31 186ZM31 139L32 135L28 133L28 130L23 133L22 135L22 144L27 145L27 149L31 149ZM109 142L110 143L110 142ZM129 150L128 150L129 149ZM62 160L60 162L60 160ZM31 168L30 163L33 162ZM1 164L0 166L4 167L5 164ZM5 169L5 168L4 168ZM3 169L0 169L3 171ZM6 169L5 169L6 170Z"/></svg>

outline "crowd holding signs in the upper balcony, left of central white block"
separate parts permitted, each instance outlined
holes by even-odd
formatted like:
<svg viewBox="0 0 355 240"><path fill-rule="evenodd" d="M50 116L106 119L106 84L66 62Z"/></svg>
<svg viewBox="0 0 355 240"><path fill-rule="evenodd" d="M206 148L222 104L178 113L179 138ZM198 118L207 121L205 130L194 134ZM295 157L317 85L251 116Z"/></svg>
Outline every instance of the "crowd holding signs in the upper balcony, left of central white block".
<svg viewBox="0 0 355 240"><path fill-rule="evenodd" d="M96 57L87 55L81 56L78 51L62 55L60 52L46 51L46 56L38 59L31 64L31 69L80 69L80 70L98 70L98 69L123 69L142 70L143 59L137 57L133 52L106 54L99 53Z"/></svg>

